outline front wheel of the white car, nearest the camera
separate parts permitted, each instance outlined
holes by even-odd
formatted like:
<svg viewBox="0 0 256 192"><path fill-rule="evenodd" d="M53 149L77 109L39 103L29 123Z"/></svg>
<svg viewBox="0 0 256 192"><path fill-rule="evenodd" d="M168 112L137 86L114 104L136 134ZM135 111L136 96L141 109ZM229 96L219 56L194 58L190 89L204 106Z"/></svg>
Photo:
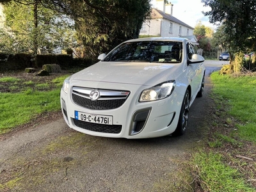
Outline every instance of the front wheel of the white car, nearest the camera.
<svg viewBox="0 0 256 192"><path fill-rule="evenodd" d="M180 109L179 122L175 131L172 134L173 136L180 136L182 134L185 134L186 132L187 125L188 125L189 103L190 103L190 95L189 95L189 91L186 90L184 99L182 101L182 106Z"/></svg>

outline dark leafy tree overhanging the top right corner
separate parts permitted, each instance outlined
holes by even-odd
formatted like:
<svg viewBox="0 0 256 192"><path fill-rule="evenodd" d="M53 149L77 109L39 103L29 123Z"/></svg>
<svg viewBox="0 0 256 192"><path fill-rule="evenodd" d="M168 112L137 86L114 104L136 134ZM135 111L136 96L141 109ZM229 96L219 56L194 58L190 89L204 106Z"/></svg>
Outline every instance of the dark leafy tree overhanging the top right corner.
<svg viewBox="0 0 256 192"><path fill-rule="evenodd" d="M202 0L211 11L204 12L210 22L223 24L230 50L255 51L256 0Z"/></svg>

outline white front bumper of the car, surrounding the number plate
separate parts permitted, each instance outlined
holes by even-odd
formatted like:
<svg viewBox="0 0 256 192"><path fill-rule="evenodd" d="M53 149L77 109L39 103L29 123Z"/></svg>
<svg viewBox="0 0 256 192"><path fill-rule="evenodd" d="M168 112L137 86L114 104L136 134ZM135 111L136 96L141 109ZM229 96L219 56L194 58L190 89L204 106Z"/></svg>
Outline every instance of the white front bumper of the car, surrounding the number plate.
<svg viewBox="0 0 256 192"><path fill-rule="evenodd" d="M99 87L95 82L88 83L92 88ZM84 84L75 82L72 86ZM113 90L120 84L100 83L100 88ZM68 93L61 90L61 109L68 126L76 131L94 136L111 138L154 138L172 134L177 127L180 105L183 95L173 92L170 97L152 102L138 102L140 93L147 86L122 86L122 90L129 90L130 95L122 106L115 109L88 109L75 104L72 100L71 89ZM75 111L93 115L113 116L113 125L95 124L77 120Z"/></svg>

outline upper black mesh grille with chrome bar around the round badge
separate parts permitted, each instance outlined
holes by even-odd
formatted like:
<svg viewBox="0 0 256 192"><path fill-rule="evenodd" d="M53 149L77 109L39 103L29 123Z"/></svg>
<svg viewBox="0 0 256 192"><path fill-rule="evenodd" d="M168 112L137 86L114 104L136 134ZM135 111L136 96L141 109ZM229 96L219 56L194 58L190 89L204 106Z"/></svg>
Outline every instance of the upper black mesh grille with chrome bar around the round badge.
<svg viewBox="0 0 256 192"><path fill-rule="evenodd" d="M91 88L74 87L72 89L72 100L78 106L87 109L106 110L116 109L124 104L130 92L116 90L98 90L99 99L91 100Z"/></svg>

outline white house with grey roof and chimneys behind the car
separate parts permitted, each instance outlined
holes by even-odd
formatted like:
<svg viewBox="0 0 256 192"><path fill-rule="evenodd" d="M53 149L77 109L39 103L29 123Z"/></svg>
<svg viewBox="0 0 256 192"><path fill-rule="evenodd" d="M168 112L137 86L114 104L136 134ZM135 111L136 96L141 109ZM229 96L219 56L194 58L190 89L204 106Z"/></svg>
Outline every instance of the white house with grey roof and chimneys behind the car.
<svg viewBox="0 0 256 192"><path fill-rule="evenodd" d="M157 0L155 6L151 19L143 22L140 35L184 37L198 45L196 36L193 35L194 28L173 17L173 4Z"/></svg>

